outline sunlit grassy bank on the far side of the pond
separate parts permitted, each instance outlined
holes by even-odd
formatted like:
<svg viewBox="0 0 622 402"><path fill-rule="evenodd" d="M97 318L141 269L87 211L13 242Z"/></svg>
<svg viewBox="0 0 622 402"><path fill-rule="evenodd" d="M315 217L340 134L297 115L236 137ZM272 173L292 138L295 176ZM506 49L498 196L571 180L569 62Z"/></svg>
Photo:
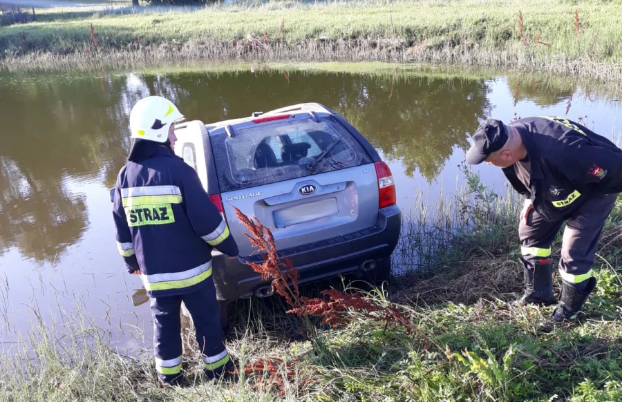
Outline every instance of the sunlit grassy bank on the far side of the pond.
<svg viewBox="0 0 622 402"><path fill-rule="evenodd" d="M272 1L177 11L51 9L37 19L0 28L4 66L381 60L601 78L622 71L622 4L604 0Z"/></svg>

